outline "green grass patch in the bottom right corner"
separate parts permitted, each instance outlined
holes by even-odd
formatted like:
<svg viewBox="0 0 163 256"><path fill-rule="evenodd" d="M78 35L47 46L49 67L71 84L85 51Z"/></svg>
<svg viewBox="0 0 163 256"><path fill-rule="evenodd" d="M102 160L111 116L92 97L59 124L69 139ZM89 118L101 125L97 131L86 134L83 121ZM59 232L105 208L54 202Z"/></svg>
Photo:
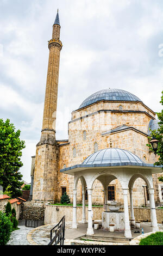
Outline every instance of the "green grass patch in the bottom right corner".
<svg viewBox="0 0 163 256"><path fill-rule="evenodd" d="M163 232L156 232L141 239L139 245L163 245Z"/></svg>

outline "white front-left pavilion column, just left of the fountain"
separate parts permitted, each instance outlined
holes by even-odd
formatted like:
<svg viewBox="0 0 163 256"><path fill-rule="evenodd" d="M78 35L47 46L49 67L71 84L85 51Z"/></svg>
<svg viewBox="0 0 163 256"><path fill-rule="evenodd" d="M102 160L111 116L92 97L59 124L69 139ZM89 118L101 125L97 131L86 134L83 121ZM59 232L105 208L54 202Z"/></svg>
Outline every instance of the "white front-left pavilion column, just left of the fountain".
<svg viewBox="0 0 163 256"><path fill-rule="evenodd" d="M93 235L93 223L92 223L92 189L87 189L87 195L88 195L88 227L87 227L87 235Z"/></svg>

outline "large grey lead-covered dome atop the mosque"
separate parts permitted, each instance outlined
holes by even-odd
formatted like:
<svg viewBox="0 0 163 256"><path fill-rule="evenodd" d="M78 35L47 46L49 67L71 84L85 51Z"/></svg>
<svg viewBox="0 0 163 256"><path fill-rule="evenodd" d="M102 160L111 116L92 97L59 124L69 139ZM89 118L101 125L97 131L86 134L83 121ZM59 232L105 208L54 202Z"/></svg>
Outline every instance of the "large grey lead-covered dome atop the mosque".
<svg viewBox="0 0 163 256"><path fill-rule="evenodd" d="M91 96L87 97L86 100L80 105L79 108L89 106L100 100L110 100L110 101L140 101L139 97L132 93L126 92L121 89L104 89L99 92L93 93Z"/></svg>

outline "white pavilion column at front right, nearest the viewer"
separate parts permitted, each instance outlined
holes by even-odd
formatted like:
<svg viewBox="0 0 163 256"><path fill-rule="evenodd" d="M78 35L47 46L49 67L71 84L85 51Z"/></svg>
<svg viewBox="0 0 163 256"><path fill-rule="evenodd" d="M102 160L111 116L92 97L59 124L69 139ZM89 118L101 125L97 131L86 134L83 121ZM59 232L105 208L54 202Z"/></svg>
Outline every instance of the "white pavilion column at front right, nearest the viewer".
<svg viewBox="0 0 163 256"><path fill-rule="evenodd" d="M124 224L125 224L125 230L124 230L124 236L127 238L131 238L131 228L130 228L130 222L129 222L129 212L128 212L128 189L123 188L123 199L124 199Z"/></svg>

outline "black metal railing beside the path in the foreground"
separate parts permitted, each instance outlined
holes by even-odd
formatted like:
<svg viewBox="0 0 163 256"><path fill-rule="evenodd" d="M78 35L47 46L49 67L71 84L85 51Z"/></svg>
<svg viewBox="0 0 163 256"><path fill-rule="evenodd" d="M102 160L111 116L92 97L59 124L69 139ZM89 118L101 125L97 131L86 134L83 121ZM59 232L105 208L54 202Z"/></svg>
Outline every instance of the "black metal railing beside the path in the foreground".
<svg viewBox="0 0 163 256"><path fill-rule="evenodd" d="M55 233L55 236L52 238L53 233ZM60 222L55 225L54 228L51 229L51 242L49 242L48 245L64 245L64 239L65 239L65 216L62 217Z"/></svg>

